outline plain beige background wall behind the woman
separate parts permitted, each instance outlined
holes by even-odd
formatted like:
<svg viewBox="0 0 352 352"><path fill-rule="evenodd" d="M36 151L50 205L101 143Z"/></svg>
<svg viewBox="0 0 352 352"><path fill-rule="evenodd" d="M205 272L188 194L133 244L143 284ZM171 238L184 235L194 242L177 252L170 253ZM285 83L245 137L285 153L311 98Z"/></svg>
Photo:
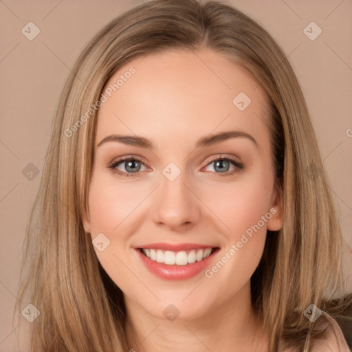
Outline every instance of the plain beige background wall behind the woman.
<svg viewBox="0 0 352 352"><path fill-rule="evenodd" d="M0 352L14 351L19 330L11 321L21 245L40 179L30 181L22 170L30 163L39 171L43 167L58 96L80 50L110 19L140 3L0 0ZM352 1L230 3L263 25L289 56L307 98L344 236L352 246ZM30 21L41 31L33 41L21 33ZM314 41L303 32L311 21L322 29ZM351 274L350 265L346 277ZM23 318L21 326L28 324Z"/></svg>

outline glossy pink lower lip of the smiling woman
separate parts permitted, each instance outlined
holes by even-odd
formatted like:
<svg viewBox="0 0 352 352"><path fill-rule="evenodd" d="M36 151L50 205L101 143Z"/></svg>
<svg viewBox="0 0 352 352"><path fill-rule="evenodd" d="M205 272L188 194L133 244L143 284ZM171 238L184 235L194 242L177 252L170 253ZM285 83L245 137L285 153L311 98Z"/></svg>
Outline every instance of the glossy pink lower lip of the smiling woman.
<svg viewBox="0 0 352 352"><path fill-rule="evenodd" d="M146 268L159 278L164 278L166 280L186 280L205 270L210 264L210 261L212 261L214 254L219 251L219 248L214 250L214 252L212 252L210 256L207 256L206 259L187 265L166 265L164 263L157 263L157 261L152 261L142 254L140 250L136 251Z"/></svg>

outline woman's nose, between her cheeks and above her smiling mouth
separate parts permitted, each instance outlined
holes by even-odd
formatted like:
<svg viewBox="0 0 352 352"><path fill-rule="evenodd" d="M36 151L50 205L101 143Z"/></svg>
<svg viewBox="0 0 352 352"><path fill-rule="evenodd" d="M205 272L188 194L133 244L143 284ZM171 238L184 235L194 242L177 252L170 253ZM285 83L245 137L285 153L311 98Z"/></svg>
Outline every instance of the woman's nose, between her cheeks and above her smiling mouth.
<svg viewBox="0 0 352 352"><path fill-rule="evenodd" d="M173 231L182 231L199 221L201 202L196 197L195 190L188 184L184 173L173 181L162 175L153 208L153 221L156 225L164 225Z"/></svg>

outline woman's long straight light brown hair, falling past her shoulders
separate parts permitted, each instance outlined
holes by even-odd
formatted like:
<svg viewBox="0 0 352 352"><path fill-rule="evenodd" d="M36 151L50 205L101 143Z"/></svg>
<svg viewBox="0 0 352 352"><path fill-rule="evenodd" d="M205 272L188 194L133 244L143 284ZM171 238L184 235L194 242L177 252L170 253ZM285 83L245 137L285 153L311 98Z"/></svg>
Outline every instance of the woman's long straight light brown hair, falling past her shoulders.
<svg viewBox="0 0 352 352"><path fill-rule="evenodd" d="M285 220L282 230L268 231L251 278L253 306L271 333L270 352L281 340L310 351L320 330L305 309L314 304L327 310L337 290L343 293L340 225L305 98L285 54L259 24L230 5L149 1L94 36L58 102L25 237L17 305L19 313L28 303L40 311L31 324L30 351L129 350L123 294L100 266L82 223L97 122L96 109L88 116L87 109L100 100L109 77L133 58L203 46L246 69L270 101L268 127Z"/></svg>

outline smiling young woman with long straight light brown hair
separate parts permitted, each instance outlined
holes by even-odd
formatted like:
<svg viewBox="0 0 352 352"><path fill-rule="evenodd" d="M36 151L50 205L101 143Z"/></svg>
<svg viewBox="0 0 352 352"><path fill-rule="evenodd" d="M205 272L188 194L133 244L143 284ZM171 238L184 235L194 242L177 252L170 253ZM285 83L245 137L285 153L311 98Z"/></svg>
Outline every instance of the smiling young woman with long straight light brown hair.
<svg viewBox="0 0 352 352"><path fill-rule="evenodd" d="M342 236L302 91L228 5L150 1L91 40L36 207L31 351L347 351Z"/></svg>

